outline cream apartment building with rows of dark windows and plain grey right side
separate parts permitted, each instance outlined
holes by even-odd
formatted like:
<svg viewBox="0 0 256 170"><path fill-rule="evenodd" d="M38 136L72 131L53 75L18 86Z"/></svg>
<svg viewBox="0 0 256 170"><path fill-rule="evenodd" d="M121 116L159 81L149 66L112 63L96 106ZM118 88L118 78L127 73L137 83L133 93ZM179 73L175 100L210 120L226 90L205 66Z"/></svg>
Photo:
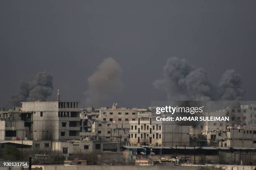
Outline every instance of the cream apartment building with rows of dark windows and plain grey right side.
<svg viewBox="0 0 256 170"><path fill-rule="evenodd" d="M151 111L140 110L138 120L130 121L130 144L150 146L189 145L190 126L156 121Z"/></svg>

